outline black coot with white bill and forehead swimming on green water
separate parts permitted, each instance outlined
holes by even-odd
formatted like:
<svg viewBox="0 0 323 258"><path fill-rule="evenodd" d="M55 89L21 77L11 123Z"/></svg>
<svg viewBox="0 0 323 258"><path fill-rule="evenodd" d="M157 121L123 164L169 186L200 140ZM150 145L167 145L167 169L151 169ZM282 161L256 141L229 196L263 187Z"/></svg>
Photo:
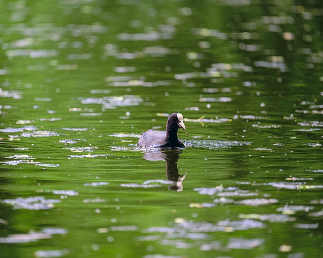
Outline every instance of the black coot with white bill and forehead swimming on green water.
<svg viewBox="0 0 323 258"><path fill-rule="evenodd" d="M167 119L166 131L154 131L150 129L144 132L138 145L145 148L175 148L185 147L177 137L177 131L182 128L186 131L181 113L173 113Z"/></svg>

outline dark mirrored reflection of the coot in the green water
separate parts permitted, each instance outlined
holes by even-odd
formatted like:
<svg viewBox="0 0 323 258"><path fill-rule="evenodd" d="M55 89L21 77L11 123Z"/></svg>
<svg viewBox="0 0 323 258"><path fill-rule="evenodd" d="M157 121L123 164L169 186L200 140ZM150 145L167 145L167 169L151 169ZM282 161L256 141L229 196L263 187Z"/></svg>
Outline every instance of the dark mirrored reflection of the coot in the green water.
<svg viewBox="0 0 323 258"><path fill-rule="evenodd" d="M165 160L167 179L174 182L168 186L168 189L173 191L183 190L183 180L185 179L186 173L180 175L177 168L177 163L182 153L181 149L158 149L143 153L143 158L149 161Z"/></svg>

